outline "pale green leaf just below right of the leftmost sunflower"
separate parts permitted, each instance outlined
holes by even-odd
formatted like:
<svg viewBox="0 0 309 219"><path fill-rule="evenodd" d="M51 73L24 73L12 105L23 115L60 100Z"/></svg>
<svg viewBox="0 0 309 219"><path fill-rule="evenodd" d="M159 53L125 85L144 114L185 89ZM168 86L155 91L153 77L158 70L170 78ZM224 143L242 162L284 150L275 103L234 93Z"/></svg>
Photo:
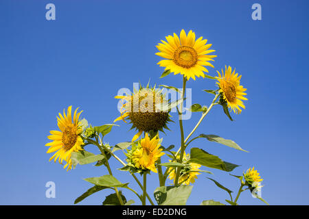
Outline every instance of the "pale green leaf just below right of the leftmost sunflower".
<svg viewBox="0 0 309 219"><path fill-rule="evenodd" d="M84 165L84 164L91 164L93 162L98 162L100 159L104 159L104 155L95 155L88 151L78 151L73 152L71 154L71 161L73 168L76 168L77 164Z"/></svg>

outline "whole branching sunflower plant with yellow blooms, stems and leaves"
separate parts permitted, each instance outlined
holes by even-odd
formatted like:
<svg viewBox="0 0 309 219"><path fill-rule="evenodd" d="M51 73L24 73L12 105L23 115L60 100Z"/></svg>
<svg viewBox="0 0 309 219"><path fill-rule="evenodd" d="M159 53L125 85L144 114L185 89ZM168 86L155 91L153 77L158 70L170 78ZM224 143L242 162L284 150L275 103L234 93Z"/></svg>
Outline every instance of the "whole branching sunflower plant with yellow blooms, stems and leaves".
<svg viewBox="0 0 309 219"><path fill-rule="evenodd" d="M205 138L211 142L244 151L236 142L220 136L206 134L194 136L198 126L215 105L220 105L228 118L233 120L230 113L240 114L245 108L243 101L247 101L245 97L247 89L240 85L242 76L236 73L235 68L225 66L221 72L217 71L218 76L216 77L206 74L208 73L207 67L214 68L211 62L216 57L216 55L211 55L215 50L211 50L210 47L211 44L207 44L207 40L203 37L196 39L195 33L191 30L188 34L181 30L179 36L176 34L166 36L166 41L161 40L161 43L157 45L159 52L156 53L156 55L163 57L163 60L158 62L159 66L165 68L161 78L170 75L170 73L180 74L183 78L183 88L173 86L155 88L148 83L145 87L139 85L133 92L115 96L116 99L119 99L121 107L120 116L112 124L93 127L86 119L80 119L82 111L78 112L76 109L72 116L71 106L68 107L67 113L65 110L63 114L59 113L57 116L59 131L50 131L51 135L48 138L52 142L46 144L49 146L47 153L54 153L49 161L54 159L56 162L58 159L58 162L64 165L67 170L76 168L77 165L92 163L95 163L95 166L104 166L108 170L108 175L84 179L92 183L93 187L76 198L74 203L79 203L91 194L109 188L115 192L106 196L103 205L132 205L135 203L133 200L126 201L121 190L130 190L136 194L142 205L146 205L147 199L151 205L155 205L155 201L158 205L185 205L198 175L203 173L211 175L211 168L231 172L238 167L236 164L225 162L218 156L207 153L204 149L193 147L190 149L190 153L188 151L190 143L198 138ZM217 90L205 90L205 92L214 95L214 99L208 106L202 107L196 103L191 105L189 109L184 109L186 83L190 79L196 80L197 77L216 81ZM180 97L171 101L167 98L167 89L176 92ZM175 109L179 115L181 138L178 150L174 150L174 145L164 147L162 145L163 138L160 138L160 132L168 129L168 123L172 122L170 112ZM183 112L185 110L201 114L201 118L190 133L185 133L183 129ZM106 138L106 135L117 125L116 123L121 120L124 123L130 123L131 129L137 130L135 136L132 140L119 142L115 146L104 143L103 138ZM97 146L100 152L95 155L86 151L89 144ZM119 158L117 153L121 152L124 153L126 159ZM167 158L168 162L161 162L163 157ZM122 164L122 167L112 169L108 162L109 159L116 159ZM209 170L201 170L201 166L205 166ZM133 190L128 186L128 183L117 180L113 176L115 170L128 172L128 175L135 179L140 190ZM150 173L156 174L159 179L159 185L154 188L153 196L150 196L146 191L147 175ZM232 196L231 190L209 178L218 188L229 194L226 199L227 204L238 205L240 193L245 190L250 190L253 196L266 203L259 193L262 188L260 185L262 179L254 167L249 168L241 176L231 175L231 177L236 177L240 181L240 188L235 197ZM172 180L173 184L165 185L167 179ZM202 201L201 205L224 204L207 200Z"/></svg>

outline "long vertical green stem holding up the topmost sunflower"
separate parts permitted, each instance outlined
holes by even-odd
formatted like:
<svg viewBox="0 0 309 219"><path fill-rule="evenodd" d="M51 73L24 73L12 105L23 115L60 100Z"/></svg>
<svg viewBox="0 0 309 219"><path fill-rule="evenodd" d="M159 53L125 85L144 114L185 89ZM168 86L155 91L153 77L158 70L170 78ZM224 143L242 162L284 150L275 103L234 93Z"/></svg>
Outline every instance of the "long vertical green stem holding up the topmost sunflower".
<svg viewBox="0 0 309 219"><path fill-rule="evenodd" d="M185 83L187 82L187 79L183 76L183 92L181 95L181 98L184 99L185 97ZM181 155L179 157L179 163L183 162L183 153L185 152L185 142L184 142L184 134L183 134L183 102L181 102L181 105L179 107L179 127L181 131ZM180 175L181 168L176 168L176 177L175 177L175 182L174 185L178 185L179 181L179 175Z"/></svg>

